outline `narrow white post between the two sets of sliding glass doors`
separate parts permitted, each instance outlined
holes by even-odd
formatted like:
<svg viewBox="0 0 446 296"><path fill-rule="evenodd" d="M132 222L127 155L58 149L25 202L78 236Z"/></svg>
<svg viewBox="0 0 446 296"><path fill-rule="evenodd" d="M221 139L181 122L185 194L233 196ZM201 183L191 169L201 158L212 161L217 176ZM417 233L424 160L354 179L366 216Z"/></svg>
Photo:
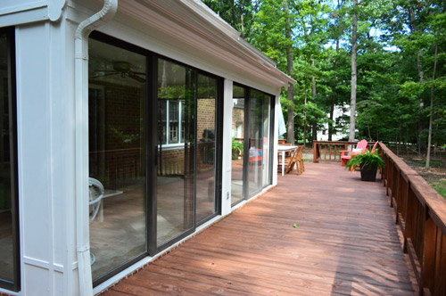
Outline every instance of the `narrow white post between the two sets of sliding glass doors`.
<svg viewBox="0 0 446 296"><path fill-rule="evenodd" d="M222 216L231 212L232 86L232 80L225 79L223 95L223 174L221 176Z"/></svg>

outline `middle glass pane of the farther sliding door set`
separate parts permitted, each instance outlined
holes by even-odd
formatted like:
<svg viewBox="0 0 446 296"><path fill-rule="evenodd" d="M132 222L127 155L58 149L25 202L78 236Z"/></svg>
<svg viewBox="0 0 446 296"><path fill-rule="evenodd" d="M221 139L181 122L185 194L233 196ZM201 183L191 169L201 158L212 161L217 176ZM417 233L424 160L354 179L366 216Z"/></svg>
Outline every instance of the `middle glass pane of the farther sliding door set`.
<svg viewBox="0 0 446 296"><path fill-rule="evenodd" d="M254 90L251 91L250 97L248 128L248 192L249 197L252 197L261 190L263 157L263 94Z"/></svg>

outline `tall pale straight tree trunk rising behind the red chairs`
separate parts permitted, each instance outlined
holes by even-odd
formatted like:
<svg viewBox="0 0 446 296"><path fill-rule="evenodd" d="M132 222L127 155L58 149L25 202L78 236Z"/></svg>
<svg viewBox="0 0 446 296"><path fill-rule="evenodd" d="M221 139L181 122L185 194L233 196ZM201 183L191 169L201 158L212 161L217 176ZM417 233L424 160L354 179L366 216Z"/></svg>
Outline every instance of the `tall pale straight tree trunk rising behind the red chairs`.
<svg viewBox="0 0 446 296"><path fill-rule="evenodd" d="M356 130L356 86L357 86L357 70L356 70L356 50L357 50L357 31L358 31L358 0L353 0L353 20L351 33L351 98L350 98L350 136L349 141L355 140Z"/></svg>

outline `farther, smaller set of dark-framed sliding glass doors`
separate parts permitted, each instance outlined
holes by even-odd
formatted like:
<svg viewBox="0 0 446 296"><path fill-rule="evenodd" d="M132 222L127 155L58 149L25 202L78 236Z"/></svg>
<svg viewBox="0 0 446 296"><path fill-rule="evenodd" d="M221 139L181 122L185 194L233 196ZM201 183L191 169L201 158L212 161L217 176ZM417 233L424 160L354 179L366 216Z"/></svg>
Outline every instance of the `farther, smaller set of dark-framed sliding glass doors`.
<svg viewBox="0 0 446 296"><path fill-rule="evenodd" d="M233 87L231 177L233 206L271 185L272 101L271 95L258 90L237 85ZM240 156L241 152L244 157Z"/></svg>

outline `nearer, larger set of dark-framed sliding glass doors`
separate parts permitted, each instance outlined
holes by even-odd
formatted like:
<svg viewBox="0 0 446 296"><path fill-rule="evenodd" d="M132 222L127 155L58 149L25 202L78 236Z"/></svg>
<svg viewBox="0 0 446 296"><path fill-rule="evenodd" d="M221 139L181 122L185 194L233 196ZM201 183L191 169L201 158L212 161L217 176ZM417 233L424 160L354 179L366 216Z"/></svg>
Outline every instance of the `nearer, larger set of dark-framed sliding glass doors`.
<svg viewBox="0 0 446 296"><path fill-rule="evenodd" d="M89 55L90 245L100 284L219 213L221 83L95 32Z"/></svg>

